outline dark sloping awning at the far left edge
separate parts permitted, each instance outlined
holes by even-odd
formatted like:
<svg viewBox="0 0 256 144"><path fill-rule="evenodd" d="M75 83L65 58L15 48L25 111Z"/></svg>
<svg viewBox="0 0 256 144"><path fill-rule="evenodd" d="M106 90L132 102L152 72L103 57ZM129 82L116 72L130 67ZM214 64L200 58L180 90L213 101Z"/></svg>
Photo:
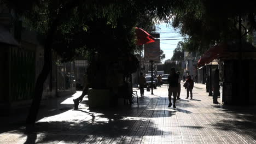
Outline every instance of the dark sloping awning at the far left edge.
<svg viewBox="0 0 256 144"><path fill-rule="evenodd" d="M9 44L18 46L19 43L16 41L13 37L13 35L10 34L10 32L0 25L0 43Z"/></svg>

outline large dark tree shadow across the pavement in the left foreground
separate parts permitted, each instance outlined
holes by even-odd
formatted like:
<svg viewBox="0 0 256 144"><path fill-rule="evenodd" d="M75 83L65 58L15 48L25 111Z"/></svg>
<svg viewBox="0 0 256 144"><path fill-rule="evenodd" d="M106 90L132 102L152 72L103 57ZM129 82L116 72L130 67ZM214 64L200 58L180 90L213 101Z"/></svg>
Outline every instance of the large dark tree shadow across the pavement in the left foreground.
<svg viewBox="0 0 256 144"><path fill-rule="evenodd" d="M127 119L118 115L103 115L95 121L37 122L35 128L33 133L26 133L25 129L11 133L26 135L25 143L93 143L100 137L112 140L124 136L156 135L147 133L152 129L160 131L159 135L162 133L150 120Z"/></svg>

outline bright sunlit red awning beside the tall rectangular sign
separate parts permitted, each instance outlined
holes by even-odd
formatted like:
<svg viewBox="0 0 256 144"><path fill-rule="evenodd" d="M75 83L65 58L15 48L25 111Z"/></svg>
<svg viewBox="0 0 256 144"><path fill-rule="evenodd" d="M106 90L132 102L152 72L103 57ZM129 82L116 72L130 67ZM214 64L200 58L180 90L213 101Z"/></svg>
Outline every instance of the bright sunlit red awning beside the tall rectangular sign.
<svg viewBox="0 0 256 144"><path fill-rule="evenodd" d="M135 33L137 37L137 45L153 43L155 41L155 38L152 37L152 35L150 35L141 28L136 27Z"/></svg>

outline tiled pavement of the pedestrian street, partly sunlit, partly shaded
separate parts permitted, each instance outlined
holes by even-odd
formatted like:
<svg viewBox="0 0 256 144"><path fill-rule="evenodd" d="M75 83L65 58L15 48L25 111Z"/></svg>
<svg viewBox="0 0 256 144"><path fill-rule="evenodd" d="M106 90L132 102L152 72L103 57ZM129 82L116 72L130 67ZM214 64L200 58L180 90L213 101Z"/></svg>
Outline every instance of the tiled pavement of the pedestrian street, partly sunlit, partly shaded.
<svg viewBox="0 0 256 144"><path fill-rule="evenodd" d="M201 84L193 93L194 99L185 99L182 88L177 109L167 107L162 86L154 95L145 91L139 107L89 110L85 98L73 111L78 92L49 101L32 134L17 125L0 129L0 143L256 143L255 107L214 105Z"/></svg>

